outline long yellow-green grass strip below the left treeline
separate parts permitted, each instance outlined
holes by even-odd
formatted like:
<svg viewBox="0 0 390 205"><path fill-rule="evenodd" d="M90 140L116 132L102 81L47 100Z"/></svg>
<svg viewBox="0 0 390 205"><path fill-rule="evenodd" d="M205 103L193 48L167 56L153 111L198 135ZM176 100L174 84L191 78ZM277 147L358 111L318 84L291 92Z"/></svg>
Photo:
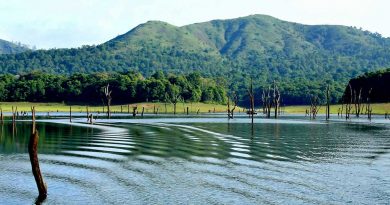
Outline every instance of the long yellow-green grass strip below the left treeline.
<svg viewBox="0 0 390 205"><path fill-rule="evenodd" d="M31 102L0 102L0 108L3 109L3 112L12 111L12 106L14 109L20 111L31 111L31 106L35 106L37 112L69 112L70 105L61 104L61 103L31 103ZM86 105L72 105L72 112L86 112ZM153 113L154 110L159 113L165 113L165 108L167 113L173 113L173 104L167 103L166 106L164 103L135 103L129 105L114 105L111 106L111 112L123 112L127 113L130 111L132 113L133 107L138 107L138 112L142 111L142 107L145 108L145 113ZM185 110L189 109L189 112L196 113L199 109L200 113L208 112L226 112L226 105L219 104L205 104L205 103L177 103L176 112L184 113ZM88 106L90 112L103 112L103 106ZM104 108L107 111L107 107Z"/></svg>

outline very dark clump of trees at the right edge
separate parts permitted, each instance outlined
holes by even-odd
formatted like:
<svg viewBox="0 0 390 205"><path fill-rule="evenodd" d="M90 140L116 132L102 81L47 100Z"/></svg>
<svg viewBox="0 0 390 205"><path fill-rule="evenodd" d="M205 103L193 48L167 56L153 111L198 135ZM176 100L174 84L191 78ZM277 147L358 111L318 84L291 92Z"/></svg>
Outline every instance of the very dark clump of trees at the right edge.
<svg viewBox="0 0 390 205"><path fill-rule="evenodd" d="M350 85L350 86L349 86ZM344 100L361 96L363 101L390 102L390 68L368 72L351 79L344 91Z"/></svg>

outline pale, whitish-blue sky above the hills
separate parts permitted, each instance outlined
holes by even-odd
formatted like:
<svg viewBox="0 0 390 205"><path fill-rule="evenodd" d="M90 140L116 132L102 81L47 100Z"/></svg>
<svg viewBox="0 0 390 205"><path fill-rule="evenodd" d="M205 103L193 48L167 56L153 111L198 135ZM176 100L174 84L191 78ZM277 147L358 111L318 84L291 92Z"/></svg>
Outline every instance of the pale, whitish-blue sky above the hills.
<svg viewBox="0 0 390 205"><path fill-rule="evenodd" d="M390 37L388 0L0 0L0 39L39 49L104 43L149 20L176 26L266 14Z"/></svg>

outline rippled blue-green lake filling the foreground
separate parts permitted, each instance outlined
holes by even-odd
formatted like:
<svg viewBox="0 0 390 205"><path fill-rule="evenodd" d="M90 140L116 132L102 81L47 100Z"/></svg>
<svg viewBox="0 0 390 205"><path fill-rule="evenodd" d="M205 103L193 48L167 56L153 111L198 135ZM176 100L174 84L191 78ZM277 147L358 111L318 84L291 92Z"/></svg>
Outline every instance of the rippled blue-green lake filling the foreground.
<svg viewBox="0 0 390 205"><path fill-rule="evenodd" d="M41 118L47 204L389 204L390 120ZM38 195L28 120L0 125L0 204Z"/></svg>

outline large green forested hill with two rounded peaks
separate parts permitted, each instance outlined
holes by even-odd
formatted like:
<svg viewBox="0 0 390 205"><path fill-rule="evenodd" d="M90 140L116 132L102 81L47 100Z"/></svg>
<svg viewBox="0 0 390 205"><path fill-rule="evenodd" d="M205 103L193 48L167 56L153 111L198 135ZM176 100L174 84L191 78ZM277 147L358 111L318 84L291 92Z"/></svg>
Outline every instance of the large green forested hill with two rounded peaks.
<svg viewBox="0 0 390 205"><path fill-rule="evenodd" d="M349 79L390 67L390 39L361 29L302 25L270 16L176 27L149 21L98 46L28 51L0 55L0 73L77 73L137 70L149 76L200 71L226 76L230 87L245 91L253 76L257 86L281 82L285 102L303 103L330 83L333 99Z"/></svg>

